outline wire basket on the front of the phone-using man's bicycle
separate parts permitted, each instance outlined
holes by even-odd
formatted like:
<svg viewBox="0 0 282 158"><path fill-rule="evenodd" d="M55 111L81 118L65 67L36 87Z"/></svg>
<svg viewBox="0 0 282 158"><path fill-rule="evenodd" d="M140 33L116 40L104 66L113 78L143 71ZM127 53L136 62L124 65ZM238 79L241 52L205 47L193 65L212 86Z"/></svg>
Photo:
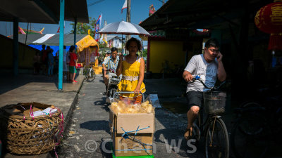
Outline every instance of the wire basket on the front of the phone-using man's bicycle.
<svg viewBox="0 0 282 158"><path fill-rule="evenodd" d="M226 93L213 91L204 92L204 112L207 114L221 114L225 112Z"/></svg>

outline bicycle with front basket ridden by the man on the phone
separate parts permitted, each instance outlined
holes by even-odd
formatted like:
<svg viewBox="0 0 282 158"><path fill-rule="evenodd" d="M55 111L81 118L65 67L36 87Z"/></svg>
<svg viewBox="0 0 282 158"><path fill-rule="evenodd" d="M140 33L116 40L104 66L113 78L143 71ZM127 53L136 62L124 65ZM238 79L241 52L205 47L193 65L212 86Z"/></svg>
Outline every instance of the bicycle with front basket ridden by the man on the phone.
<svg viewBox="0 0 282 158"><path fill-rule="evenodd" d="M204 112L207 114L205 121L202 121L202 112L199 112L196 123L193 123L192 138L200 141L201 131L204 133L205 155L209 157L229 157L229 138L228 131L221 115L225 112L226 93L219 91L219 88L225 83L223 81L217 87L208 87L199 76L192 79L192 82L200 81L209 91L203 93ZM189 82L188 84L192 83ZM202 108L201 108L202 110ZM203 122L203 124L202 124Z"/></svg>

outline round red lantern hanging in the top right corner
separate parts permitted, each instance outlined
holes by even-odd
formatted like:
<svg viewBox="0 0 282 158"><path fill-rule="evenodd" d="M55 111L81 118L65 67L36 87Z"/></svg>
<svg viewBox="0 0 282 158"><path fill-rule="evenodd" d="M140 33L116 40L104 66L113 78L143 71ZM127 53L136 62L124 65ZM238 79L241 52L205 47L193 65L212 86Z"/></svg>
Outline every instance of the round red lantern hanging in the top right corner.
<svg viewBox="0 0 282 158"><path fill-rule="evenodd" d="M255 25L271 34L269 50L282 50L282 2L268 4L257 11Z"/></svg>

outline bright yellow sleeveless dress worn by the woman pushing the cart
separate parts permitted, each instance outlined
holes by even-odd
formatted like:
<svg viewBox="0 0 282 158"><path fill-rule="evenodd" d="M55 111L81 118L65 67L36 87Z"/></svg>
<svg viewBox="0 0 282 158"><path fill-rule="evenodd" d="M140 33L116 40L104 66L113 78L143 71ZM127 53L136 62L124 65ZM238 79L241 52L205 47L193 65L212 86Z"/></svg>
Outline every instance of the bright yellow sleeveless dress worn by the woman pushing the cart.
<svg viewBox="0 0 282 158"><path fill-rule="evenodd" d="M137 84L138 84L138 78L140 74L140 62L141 58L137 58L133 64L128 63L127 61L123 60L123 71L121 74L123 74L123 77L121 81L118 83L118 90L117 91L134 91ZM142 82L140 86L140 91L142 93L145 93L145 84ZM137 96L140 96L141 94L121 94L123 97L128 98L135 98Z"/></svg>

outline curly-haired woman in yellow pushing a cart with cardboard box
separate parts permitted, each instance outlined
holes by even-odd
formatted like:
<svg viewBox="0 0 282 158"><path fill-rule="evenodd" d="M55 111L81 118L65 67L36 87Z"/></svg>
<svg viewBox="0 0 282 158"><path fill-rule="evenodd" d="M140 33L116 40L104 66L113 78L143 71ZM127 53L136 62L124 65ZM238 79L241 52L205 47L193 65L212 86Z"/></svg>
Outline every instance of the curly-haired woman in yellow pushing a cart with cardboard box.
<svg viewBox="0 0 282 158"><path fill-rule="evenodd" d="M138 57L137 51L141 50L141 42L135 38L129 39L125 44L129 54L121 56L116 69L116 75L123 74L118 83L117 91L133 91L134 93L121 94L120 98L133 98L134 103L141 103L142 94L145 93L145 84L143 83L145 73L145 61Z"/></svg>

